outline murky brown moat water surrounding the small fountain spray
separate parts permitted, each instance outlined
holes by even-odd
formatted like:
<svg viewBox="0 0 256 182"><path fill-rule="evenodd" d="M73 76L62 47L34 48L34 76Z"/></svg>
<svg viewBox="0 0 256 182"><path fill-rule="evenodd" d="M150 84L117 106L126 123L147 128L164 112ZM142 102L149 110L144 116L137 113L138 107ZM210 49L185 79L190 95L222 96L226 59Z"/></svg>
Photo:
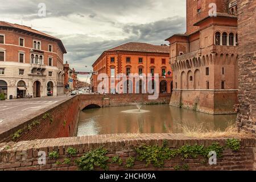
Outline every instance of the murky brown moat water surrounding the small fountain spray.
<svg viewBox="0 0 256 182"><path fill-rule="evenodd" d="M81 111L78 136L116 133L181 133L180 126L225 130L237 115L211 115L169 105L143 106L147 113L125 113L134 106L105 107Z"/></svg>

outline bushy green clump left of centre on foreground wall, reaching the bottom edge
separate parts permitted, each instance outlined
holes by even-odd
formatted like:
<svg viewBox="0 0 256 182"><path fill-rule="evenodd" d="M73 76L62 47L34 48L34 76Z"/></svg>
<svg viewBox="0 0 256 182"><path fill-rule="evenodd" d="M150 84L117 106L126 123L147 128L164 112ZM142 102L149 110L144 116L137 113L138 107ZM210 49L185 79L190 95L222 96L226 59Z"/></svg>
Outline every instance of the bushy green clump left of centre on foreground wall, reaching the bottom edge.
<svg viewBox="0 0 256 182"><path fill-rule="evenodd" d="M97 150L89 151L84 156L76 160L76 164L82 171L93 171L94 167L108 170L109 158L105 155L108 151L100 147Z"/></svg>

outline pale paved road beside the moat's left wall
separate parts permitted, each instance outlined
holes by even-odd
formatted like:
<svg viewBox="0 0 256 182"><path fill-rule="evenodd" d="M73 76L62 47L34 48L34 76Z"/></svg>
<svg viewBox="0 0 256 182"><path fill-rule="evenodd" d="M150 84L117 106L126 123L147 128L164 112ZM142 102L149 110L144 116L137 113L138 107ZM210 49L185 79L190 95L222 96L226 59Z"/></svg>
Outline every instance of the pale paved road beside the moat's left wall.
<svg viewBox="0 0 256 182"><path fill-rule="evenodd" d="M71 96L68 96L71 97ZM64 101L67 96L44 97L31 99L18 99L0 101L0 127L8 125L9 122L17 121L28 115L36 113L36 111L44 109L58 102Z"/></svg>

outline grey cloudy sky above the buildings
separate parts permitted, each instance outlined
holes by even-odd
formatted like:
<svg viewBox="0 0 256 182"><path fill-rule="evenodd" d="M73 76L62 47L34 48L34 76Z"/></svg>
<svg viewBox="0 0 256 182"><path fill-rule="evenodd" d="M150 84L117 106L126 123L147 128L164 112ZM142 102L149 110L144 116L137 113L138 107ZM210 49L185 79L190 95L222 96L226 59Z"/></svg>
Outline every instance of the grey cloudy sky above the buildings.
<svg viewBox="0 0 256 182"><path fill-rule="evenodd" d="M77 71L91 71L90 65L106 49L127 42L160 45L172 34L185 32L185 0L0 2L0 20L60 38L68 51L64 60ZM46 16L38 16L40 3L46 5Z"/></svg>

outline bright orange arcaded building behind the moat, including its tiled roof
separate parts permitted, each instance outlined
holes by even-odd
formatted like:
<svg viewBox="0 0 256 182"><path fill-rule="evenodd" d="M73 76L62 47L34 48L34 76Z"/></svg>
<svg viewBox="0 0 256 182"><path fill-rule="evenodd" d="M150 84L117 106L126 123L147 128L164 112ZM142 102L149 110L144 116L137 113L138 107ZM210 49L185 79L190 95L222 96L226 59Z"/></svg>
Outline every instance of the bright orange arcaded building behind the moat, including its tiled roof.
<svg viewBox="0 0 256 182"><path fill-rule="evenodd" d="M116 77L119 73L129 74L153 74L159 73L159 92L171 93L172 74L171 67L168 64L169 46L154 46L146 43L126 43L121 46L104 51L100 57L93 64L93 71L97 75L93 75L90 79L92 81L92 90L97 92L99 82L97 76L101 73L106 73L110 78ZM119 81L115 81L115 86ZM135 82L135 80L133 80ZM146 80L146 82L149 82ZM151 82L154 83L154 82ZM129 88L130 81L126 82ZM110 85L110 81L109 81ZM137 86L136 86L137 85ZM154 85L154 84L152 84ZM144 89L142 87L144 86ZM136 90L137 88L138 90ZM148 93L147 85L143 83L142 79L133 84L133 93ZM153 88L154 89L154 86ZM128 91L128 89L127 89ZM109 93L116 93L116 90L109 88ZM127 92L128 93L128 92Z"/></svg>

